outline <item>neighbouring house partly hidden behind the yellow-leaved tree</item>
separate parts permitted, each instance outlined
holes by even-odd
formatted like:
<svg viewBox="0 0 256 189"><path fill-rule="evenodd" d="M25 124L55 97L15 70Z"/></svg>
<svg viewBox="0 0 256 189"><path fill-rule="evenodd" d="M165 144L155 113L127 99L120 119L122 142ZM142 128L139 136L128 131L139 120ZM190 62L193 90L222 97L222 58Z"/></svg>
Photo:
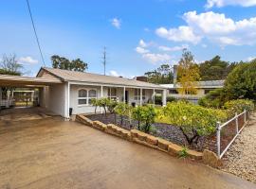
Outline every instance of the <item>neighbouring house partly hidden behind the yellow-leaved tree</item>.
<svg viewBox="0 0 256 189"><path fill-rule="evenodd" d="M197 102L200 97L208 94L210 91L215 89L223 88L225 80L207 80L195 82L196 93L195 94L180 94L179 89L181 88L179 83L176 84L162 84L160 86L167 89L167 95L174 96L177 99L187 98L192 102Z"/></svg>

